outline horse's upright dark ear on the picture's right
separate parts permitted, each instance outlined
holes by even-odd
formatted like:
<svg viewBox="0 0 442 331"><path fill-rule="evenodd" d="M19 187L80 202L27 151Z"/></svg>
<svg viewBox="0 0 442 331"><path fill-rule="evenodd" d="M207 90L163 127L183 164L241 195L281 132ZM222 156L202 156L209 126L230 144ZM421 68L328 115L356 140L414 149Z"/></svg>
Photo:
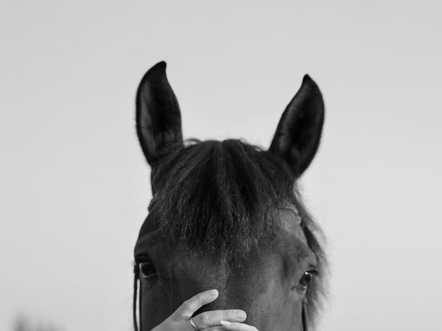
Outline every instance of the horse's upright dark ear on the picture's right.
<svg viewBox="0 0 442 331"><path fill-rule="evenodd" d="M285 159L296 178L307 169L318 150L323 131L324 102L307 74L285 108L269 150Z"/></svg>

